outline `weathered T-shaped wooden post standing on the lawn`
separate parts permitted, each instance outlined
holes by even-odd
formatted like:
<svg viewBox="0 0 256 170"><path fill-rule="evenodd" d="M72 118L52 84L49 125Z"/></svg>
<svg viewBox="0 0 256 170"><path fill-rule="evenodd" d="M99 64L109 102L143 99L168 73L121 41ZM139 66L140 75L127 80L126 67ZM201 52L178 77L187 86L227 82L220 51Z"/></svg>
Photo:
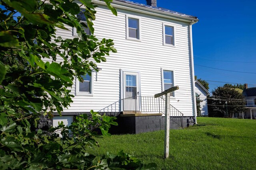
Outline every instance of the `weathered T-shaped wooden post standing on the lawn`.
<svg viewBox="0 0 256 170"><path fill-rule="evenodd" d="M164 92L155 94L155 98L165 95L165 117L164 117L164 158L169 157L169 141L170 141L170 92L178 90L178 86L174 86Z"/></svg>

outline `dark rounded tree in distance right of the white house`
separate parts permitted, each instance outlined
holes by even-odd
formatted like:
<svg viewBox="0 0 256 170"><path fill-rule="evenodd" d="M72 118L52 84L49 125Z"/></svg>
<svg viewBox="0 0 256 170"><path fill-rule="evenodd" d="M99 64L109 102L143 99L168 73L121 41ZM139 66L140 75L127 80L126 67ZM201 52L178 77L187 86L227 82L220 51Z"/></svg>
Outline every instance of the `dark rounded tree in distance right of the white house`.
<svg viewBox="0 0 256 170"><path fill-rule="evenodd" d="M242 94L226 86L212 90L212 96L208 98L209 115L212 117L232 117L234 113L245 111L244 106Z"/></svg>

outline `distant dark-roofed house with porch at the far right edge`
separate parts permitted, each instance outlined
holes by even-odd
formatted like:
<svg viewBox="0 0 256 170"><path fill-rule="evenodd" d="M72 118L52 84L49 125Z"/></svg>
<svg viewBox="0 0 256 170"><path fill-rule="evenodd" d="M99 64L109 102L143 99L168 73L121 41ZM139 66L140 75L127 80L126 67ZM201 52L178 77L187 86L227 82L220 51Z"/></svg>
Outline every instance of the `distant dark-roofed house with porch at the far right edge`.
<svg viewBox="0 0 256 170"><path fill-rule="evenodd" d="M246 108L244 118L256 119L256 87L248 88L245 84L243 96L246 99Z"/></svg>

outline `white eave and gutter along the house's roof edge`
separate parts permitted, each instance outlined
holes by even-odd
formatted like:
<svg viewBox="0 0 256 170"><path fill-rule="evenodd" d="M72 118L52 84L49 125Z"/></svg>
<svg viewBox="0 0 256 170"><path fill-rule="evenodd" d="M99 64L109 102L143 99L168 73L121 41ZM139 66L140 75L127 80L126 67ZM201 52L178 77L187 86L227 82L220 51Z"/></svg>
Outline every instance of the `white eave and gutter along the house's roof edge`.
<svg viewBox="0 0 256 170"><path fill-rule="evenodd" d="M106 6L106 3L104 1L92 0L92 2L94 4ZM139 6L136 4L130 4L130 3L116 1L116 0L113 0L111 5L117 9L129 10L132 12L138 12L138 13L148 14L148 15L152 15L152 16L159 16L162 18L168 18L171 20L177 20L177 21L182 21L182 22L191 23L191 24L194 24L199 21L197 18L192 18L189 16L182 16L182 15L178 15L178 14L172 14L170 12L161 11L161 10L158 10L155 8L152 8L152 9L145 8L144 6Z"/></svg>

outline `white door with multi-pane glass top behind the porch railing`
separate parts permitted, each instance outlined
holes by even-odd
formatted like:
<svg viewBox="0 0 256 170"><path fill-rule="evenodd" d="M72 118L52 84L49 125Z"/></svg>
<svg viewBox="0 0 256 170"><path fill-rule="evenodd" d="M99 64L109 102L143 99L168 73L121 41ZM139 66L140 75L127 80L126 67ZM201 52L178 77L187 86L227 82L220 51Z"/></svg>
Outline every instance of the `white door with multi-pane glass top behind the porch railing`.
<svg viewBox="0 0 256 170"><path fill-rule="evenodd" d="M139 112L140 99L140 72L123 71L122 73L122 108L124 113Z"/></svg>

